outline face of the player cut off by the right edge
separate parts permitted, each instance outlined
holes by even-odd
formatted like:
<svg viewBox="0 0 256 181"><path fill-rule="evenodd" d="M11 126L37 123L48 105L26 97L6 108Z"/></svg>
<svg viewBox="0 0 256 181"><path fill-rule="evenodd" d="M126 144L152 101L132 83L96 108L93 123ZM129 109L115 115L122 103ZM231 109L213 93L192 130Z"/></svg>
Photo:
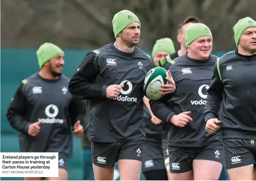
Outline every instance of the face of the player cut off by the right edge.
<svg viewBox="0 0 256 181"><path fill-rule="evenodd" d="M247 28L240 37L240 47L245 50L249 50L251 53L256 52L256 28Z"/></svg>

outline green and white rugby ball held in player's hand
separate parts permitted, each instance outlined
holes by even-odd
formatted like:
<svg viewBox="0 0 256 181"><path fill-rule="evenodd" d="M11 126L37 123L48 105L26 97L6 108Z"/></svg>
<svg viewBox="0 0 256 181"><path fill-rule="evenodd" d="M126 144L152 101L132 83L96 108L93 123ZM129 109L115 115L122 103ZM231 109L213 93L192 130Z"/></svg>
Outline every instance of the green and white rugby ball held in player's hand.
<svg viewBox="0 0 256 181"><path fill-rule="evenodd" d="M164 95L160 94L161 85L167 85L169 77L168 72L164 68L156 67L148 71L144 79L143 90L148 99L158 100Z"/></svg>

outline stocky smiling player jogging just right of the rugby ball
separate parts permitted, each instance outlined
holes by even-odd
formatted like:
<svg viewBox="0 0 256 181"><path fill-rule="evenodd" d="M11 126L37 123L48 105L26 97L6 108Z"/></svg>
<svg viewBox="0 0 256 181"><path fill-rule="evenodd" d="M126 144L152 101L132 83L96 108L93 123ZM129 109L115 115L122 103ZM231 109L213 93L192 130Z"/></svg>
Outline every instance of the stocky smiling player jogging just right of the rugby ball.
<svg viewBox="0 0 256 181"><path fill-rule="evenodd" d="M217 57L212 33L202 23L185 32L188 53L168 68L177 84L171 99L150 101L152 112L170 124L168 153L171 180L218 180L222 169L220 132L208 135L204 125L206 89Z"/></svg>

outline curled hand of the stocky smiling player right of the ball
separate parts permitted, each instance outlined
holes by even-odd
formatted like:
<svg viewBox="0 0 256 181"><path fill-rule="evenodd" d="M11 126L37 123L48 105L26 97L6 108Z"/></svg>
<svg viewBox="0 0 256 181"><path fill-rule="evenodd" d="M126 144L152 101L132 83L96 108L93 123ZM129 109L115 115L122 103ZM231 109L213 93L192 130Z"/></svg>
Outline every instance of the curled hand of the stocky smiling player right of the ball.
<svg viewBox="0 0 256 181"><path fill-rule="evenodd" d="M185 127L189 121L192 121L192 118L188 116L191 111L182 112L179 115L173 115L170 118L170 123L174 124L176 127Z"/></svg>

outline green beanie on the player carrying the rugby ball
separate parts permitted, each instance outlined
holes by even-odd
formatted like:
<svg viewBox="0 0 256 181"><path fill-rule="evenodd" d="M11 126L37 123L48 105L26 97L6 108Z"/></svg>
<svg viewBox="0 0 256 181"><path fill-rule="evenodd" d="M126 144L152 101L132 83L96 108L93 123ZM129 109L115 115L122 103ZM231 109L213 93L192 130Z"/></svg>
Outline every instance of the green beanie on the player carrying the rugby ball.
<svg viewBox="0 0 256 181"><path fill-rule="evenodd" d="M133 12L128 10L122 10L117 12L112 20L115 37L117 37L117 35L129 24L134 22L138 22L139 24L141 24L141 22L139 22L139 18Z"/></svg>

